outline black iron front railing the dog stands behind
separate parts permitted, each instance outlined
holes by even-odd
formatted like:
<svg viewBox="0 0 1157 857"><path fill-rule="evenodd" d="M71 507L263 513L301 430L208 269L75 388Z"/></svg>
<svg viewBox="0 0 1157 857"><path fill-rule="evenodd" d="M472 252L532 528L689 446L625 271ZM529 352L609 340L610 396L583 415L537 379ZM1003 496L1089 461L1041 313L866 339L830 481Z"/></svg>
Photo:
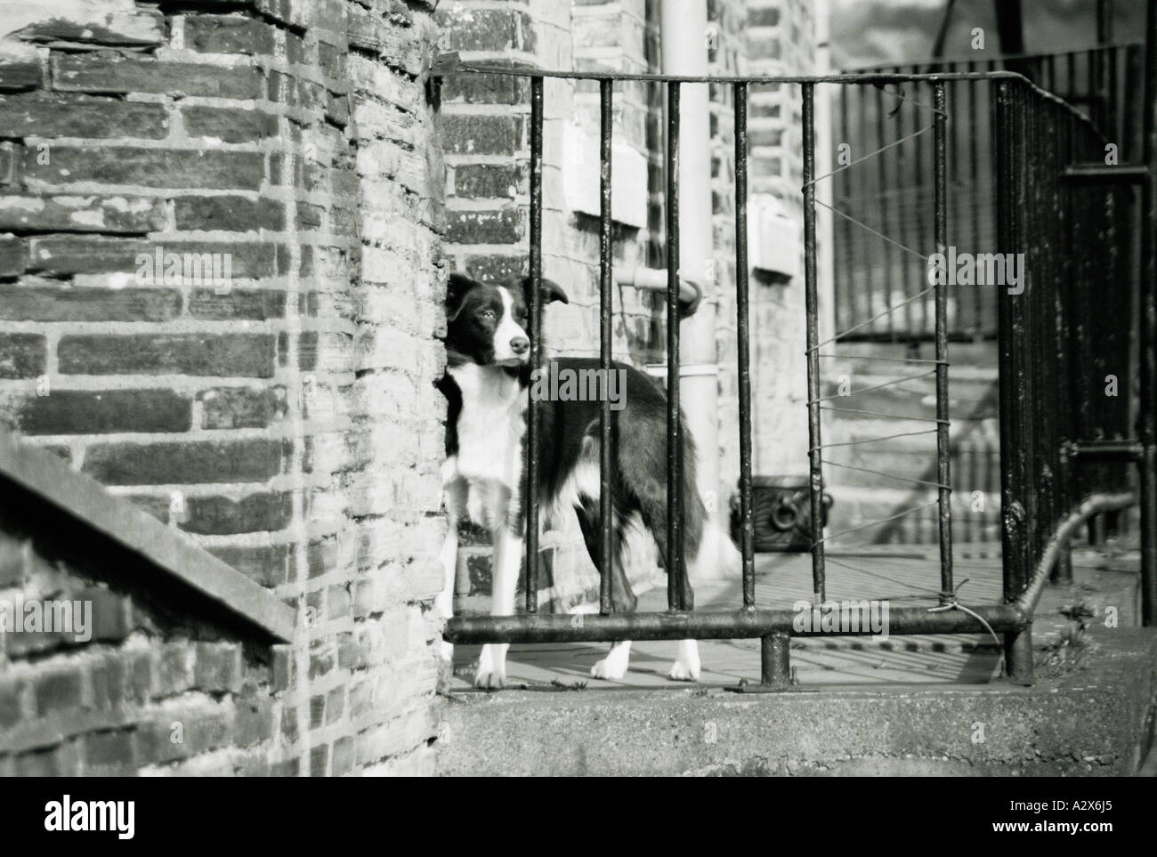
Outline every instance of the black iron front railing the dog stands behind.
<svg viewBox="0 0 1157 857"><path fill-rule="evenodd" d="M1157 8L1157 3L1154 3ZM1149 57L1150 79L1154 57ZM1004 515L1004 598L1002 604L971 606L956 609L953 594L952 545L951 545L951 473L949 467L948 428L948 349L950 331L948 305L950 288L942 282L930 287L933 294L933 331L936 340L936 434L937 434L937 486L939 505L939 605L929 607L899 607L890 612L891 634L924 633L982 633L986 627L1005 637L1007 664L1014 680L1032 680L1031 622L1032 606L1039 592L1041 567L1051 564L1060 553L1059 540L1071 533L1074 520L1106 508L1119 508L1132 502L1130 496L1083 497L1079 479L1074 479L1066 470L1066 458L1074 451L1078 456L1091 455L1096 444L1083 443L1081 431L1084 426L1074 415L1069 392L1061 390L1081 348L1096 347L1082 340L1081 318L1077 302L1096 288L1096 278L1104 269L1095 257L1096 252L1074 253L1070 242L1064 239L1066 229L1095 229L1104 231L1105 241L1113 241L1111 223L1104 212L1090 213L1075 206L1074 194L1067 190L1063 179L1064 167L1097 160L1103 153L1101 138L1085 117L1066 105L1059 98L1032 86L1022 76L1010 72L971 72L936 75L915 74L843 74L832 76L765 76L765 77L675 77L642 74L604 74L595 72L544 72L537 69L494 68L485 66L457 65L445 61L443 74L502 74L522 75L531 80L531 179L530 179L530 275L537 282L541 276L541 205L543 205L543 79L576 77L599 81L602 172L600 172L600 361L604 369L611 368L611 99L616 80L647 80L666 88L668 94L668 146L666 146L666 242L669 287L666 301L668 325L668 515L666 542L669 555L665 568L669 575L668 607L665 612L614 613L610 598L611 514L609 507L610 486L613 480L611 467L612 434L611 412L604 402L600 414L599 441L602 463L602 582L600 612L584 615L574 622L569 615L536 614L538 590L538 408L530 397L530 456L529 488L524 493L528 504L528 591L526 612L522 615L457 616L447 623L445 638L454 643L514 643L514 642L578 642L620 640L678 640L678 638L754 638L762 641L762 670L765 685L782 685L789 677L788 637L798 635L796 613L789 609L765 609L756 606L756 581L753 562L752 527L752 456L751 456L751 376L750 376L750 325L749 325L749 276L746 260L746 104L747 89L752 84L780 83L801 87L803 99L803 146L804 146L804 288L806 295L808 339L808 390L809 390L809 459L811 495L811 555L812 585L817 598L824 599L824 544L823 532L823 441L820 420L819 378L819 305L816 236L816 183L826 177L816 176L816 89L823 84L834 84L841 89L852 87L914 87L928 86L933 91L933 169L935 187L933 194L931 243L943 252L949 244L951 212L949 194L948 125L950 111L946 109L948 89L958 82L986 81L996 88L995 142L996 186L998 193L992 213L997 224L998 241L994 250L1029 253L1029 276L1023 293L1004 290L1000 300L1001 333L1001 383L1003 402L1001 408L1001 439L1003 472ZM679 187L677 177L679 156L679 94L684 83L712 82L730 84L734 88L735 142L736 142L736 311L738 330L738 377L739 377L739 463L740 463L740 549L743 554L743 598L735 609L692 612L681 603L683 586L679 575L683 563L681 552L681 444L679 437L679 280L678 246ZM1149 90L1147 104L1151 105L1154 93ZM1152 117L1148 117L1147 128L1152 138ZM1151 156L1152 148L1147 149ZM1147 189L1152 179L1148 171ZM1095 178L1092 180L1100 180ZM1152 199L1150 197L1150 208ZM1057 219L1056 212L1063 210ZM1108 219L1111 220L1111 217ZM1151 224L1150 224L1151 228ZM927 248L928 242L921 246ZM1152 245L1148 245L1147 259L1151 258ZM1079 260L1088 276L1067 279L1075 260ZM1151 264L1151 263L1150 263ZM1154 363L1152 280L1149 281L1149 315L1142 325L1142 349L1148 355L1147 382L1151 390ZM531 289L531 338L532 354L538 359L538 340L541 330L541 302L537 288ZM1095 301L1090 301L1095 303ZM1144 309L1144 308L1143 308ZM1092 308L1096 311L1096 306ZM1144 315L1144 312L1143 312ZM1078 342L1074 346L1073 342ZM1054 383L1056 389L1049 386ZM1078 387L1078 397L1088 394ZM1142 397L1144 400L1144 397ZM1083 401L1083 399L1082 399ZM1129 442L1129 455L1155 459L1154 451L1154 402L1149 398L1143 405L1144 423L1141 437ZM1097 448L1111 455L1107 446ZM1067 451L1068 450L1068 455ZM1140 452L1138 452L1140 450ZM1151 475L1142 481L1142 517L1150 522L1144 527L1144 569L1147 575L1147 621L1152 621L1154 577L1154 485ZM1090 511L1091 510L1091 511ZM1047 570L1046 570L1047 575ZM871 629L843 628L840 634L871 634Z"/></svg>

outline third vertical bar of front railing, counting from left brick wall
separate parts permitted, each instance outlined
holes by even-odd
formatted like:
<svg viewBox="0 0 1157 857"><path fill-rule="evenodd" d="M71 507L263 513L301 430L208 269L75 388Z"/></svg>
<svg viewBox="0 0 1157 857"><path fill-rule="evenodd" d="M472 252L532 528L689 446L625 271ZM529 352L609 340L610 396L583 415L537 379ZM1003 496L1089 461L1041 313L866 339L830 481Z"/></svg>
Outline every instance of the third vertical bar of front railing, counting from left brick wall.
<svg viewBox="0 0 1157 857"><path fill-rule="evenodd" d="M683 608L679 426L679 83L666 84L666 603Z"/></svg>

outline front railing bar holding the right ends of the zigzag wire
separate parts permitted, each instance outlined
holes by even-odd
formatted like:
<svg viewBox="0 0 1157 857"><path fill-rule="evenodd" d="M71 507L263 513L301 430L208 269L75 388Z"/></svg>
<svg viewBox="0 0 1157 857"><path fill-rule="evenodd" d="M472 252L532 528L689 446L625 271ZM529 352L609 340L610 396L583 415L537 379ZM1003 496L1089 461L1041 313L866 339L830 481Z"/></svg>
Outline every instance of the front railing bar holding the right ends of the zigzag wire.
<svg viewBox="0 0 1157 857"><path fill-rule="evenodd" d="M933 127L936 190L933 217L936 229L936 252L948 253L948 112L944 81L936 81L935 125ZM944 274L948 272L945 271ZM948 278L936 285L936 481L939 482L941 597L952 593L952 489L951 448L948 408Z"/></svg>

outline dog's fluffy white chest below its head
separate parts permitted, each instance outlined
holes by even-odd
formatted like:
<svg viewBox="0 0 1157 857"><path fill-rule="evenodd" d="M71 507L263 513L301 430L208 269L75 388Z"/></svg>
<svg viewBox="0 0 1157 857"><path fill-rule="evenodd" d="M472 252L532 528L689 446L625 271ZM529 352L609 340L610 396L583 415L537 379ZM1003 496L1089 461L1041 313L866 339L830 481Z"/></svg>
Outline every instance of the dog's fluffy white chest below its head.
<svg viewBox="0 0 1157 857"><path fill-rule="evenodd" d="M470 482L495 481L515 489L522 467L526 393L501 369L470 364L450 375L462 391L458 474Z"/></svg>

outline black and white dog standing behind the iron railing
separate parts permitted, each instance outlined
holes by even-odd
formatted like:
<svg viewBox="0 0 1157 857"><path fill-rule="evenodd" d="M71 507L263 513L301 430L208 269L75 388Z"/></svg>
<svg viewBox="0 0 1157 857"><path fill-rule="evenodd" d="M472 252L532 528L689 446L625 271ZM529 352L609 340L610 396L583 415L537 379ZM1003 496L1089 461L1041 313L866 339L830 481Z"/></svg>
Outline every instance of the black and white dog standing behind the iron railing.
<svg viewBox="0 0 1157 857"><path fill-rule="evenodd" d="M543 301L569 303L566 293L541 280ZM489 286L451 274L447 291L447 374L440 389L447 397L447 461L443 466L449 534L442 549L445 585L439 600L442 615L452 612L458 520L469 517L494 538L491 613L514 613L515 585L523 556L523 494L525 431L530 387L528 304L530 278L517 286ZM555 359L560 368L596 369L592 359ZM612 603L616 611L635 608L635 596L624 570L624 535L642 525L665 556L666 541L666 394L654 381L621 363L626 372L625 407L612 412L612 460L616 470L612 527ZM539 460L539 502L548 519L575 509L595 567L599 566L600 529L597 401L543 401ZM684 424L683 594L694 606L690 578L734 576L739 554L730 538L707 516L695 488L694 441ZM664 563L666 567L666 563ZM688 576L690 571L690 576ZM449 656L448 651L443 653ZM474 685L501 687L506 681L507 644L482 648ZM612 645L591 674L620 679L627 671L631 643ZM694 640L679 644L671 679L699 679Z"/></svg>

